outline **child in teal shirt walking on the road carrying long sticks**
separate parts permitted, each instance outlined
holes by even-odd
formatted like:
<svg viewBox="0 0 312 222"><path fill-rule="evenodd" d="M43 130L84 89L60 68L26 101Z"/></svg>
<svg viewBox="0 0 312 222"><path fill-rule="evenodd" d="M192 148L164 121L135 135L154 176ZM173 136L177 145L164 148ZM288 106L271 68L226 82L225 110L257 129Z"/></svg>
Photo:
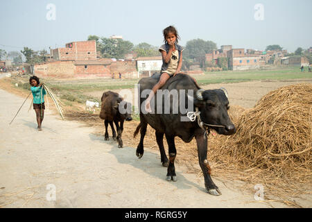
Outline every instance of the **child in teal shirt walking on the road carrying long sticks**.
<svg viewBox="0 0 312 222"><path fill-rule="evenodd" d="M36 112L37 129L41 131L42 121L44 119L44 95L46 94L46 90L42 87L37 76L31 76L29 78L29 84L31 84L31 92L33 93L33 109Z"/></svg>

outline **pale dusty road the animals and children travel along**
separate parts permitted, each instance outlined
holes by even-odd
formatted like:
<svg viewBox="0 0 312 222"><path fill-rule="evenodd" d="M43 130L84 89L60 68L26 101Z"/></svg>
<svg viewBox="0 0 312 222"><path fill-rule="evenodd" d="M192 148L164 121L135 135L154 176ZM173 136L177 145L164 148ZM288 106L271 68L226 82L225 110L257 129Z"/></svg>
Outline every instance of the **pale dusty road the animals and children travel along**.
<svg viewBox="0 0 312 222"><path fill-rule="evenodd" d="M23 101L0 89L1 207L270 207L218 178L223 195L211 196L201 177L178 165L177 182L167 182L158 153L138 160L135 148L117 148L92 128L49 112L38 132L31 100L9 126ZM53 198L48 185L55 200L46 198Z"/></svg>

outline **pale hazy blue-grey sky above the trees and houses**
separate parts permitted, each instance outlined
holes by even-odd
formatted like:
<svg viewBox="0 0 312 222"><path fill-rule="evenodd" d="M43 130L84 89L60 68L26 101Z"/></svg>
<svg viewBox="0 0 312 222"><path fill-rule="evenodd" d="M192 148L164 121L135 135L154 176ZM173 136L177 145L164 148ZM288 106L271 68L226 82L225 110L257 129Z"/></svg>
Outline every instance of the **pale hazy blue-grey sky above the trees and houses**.
<svg viewBox="0 0 312 222"><path fill-rule="evenodd" d="M49 3L55 5L55 20L46 19ZM254 9L257 3L263 14ZM160 46L162 30L174 25L182 45L201 38L218 48L264 50L279 44L295 51L312 46L311 9L311 0L1 0L0 49L64 47L88 35L122 35L133 44Z"/></svg>

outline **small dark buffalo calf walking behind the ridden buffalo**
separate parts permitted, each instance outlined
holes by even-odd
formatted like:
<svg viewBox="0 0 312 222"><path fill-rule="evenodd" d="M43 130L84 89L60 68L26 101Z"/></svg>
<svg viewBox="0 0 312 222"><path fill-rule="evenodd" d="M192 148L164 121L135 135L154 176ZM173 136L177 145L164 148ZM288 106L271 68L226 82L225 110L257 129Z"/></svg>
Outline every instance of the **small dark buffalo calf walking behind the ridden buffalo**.
<svg viewBox="0 0 312 222"><path fill-rule="evenodd" d="M123 123L124 121L131 121L131 109L132 105L131 103L125 103L123 101L123 98L119 96L116 92L104 92L103 96L101 98L102 105L101 105L101 112L100 112L100 118L104 119L105 124L105 140L108 140L108 133L107 133L107 126L108 123L110 123L110 127L112 128L112 137L114 140L118 140L118 147L123 147L123 140L121 139L121 134L123 133ZM123 105L123 110L125 112L121 113L119 112L119 106ZM128 111L130 108L130 112ZM114 129L114 124L116 125L117 130L117 137L116 137L116 131Z"/></svg>

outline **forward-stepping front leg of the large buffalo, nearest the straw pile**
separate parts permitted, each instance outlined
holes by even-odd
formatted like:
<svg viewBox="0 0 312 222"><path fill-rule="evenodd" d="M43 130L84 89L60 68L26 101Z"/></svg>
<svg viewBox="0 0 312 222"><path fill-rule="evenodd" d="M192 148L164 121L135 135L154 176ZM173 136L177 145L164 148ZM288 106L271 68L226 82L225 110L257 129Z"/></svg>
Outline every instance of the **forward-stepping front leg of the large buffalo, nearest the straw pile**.
<svg viewBox="0 0 312 222"><path fill-rule="evenodd" d="M195 137L198 150L198 161L200 168L202 169L202 173L204 174L205 187L209 194L219 196L221 192L214 184L214 181L212 181L210 176L211 169L207 160L207 137L205 137L203 130L200 129L196 130Z"/></svg>

